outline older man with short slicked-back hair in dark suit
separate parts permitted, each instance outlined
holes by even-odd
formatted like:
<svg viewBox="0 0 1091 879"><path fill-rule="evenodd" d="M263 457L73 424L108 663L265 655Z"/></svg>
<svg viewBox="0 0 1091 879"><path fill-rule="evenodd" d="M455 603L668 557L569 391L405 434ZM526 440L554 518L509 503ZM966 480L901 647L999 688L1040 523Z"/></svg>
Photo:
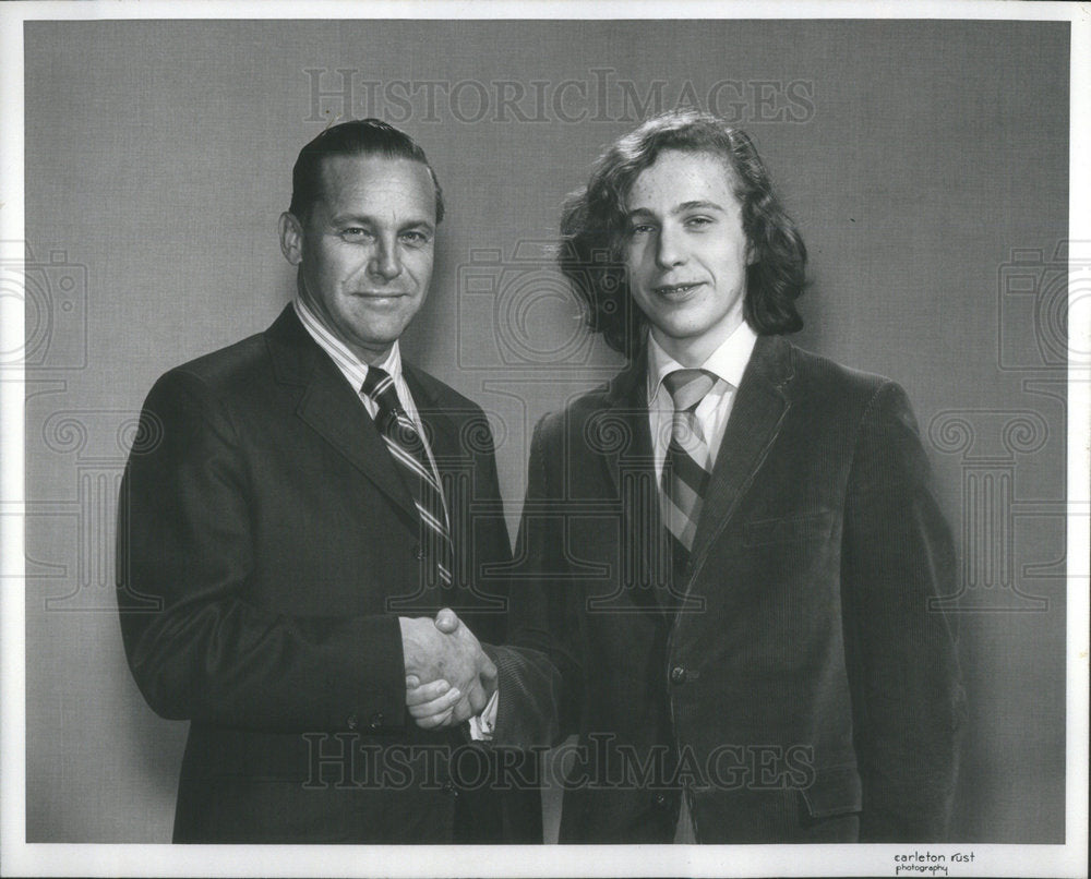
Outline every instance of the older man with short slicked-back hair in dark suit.
<svg viewBox="0 0 1091 879"><path fill-rule="evenodd" d="M483 413L398 347L431 280L435 173L362 120L303 147L292 184L296 300L156 383L121 490L129 662L191 722L175 840L540 840L537 791L493 793L488 761L460 783L463 736L406 714L407 678L441 671L445 718L484 705L495 670L431 615L502 639L482 571L509 558Z"/></svg>

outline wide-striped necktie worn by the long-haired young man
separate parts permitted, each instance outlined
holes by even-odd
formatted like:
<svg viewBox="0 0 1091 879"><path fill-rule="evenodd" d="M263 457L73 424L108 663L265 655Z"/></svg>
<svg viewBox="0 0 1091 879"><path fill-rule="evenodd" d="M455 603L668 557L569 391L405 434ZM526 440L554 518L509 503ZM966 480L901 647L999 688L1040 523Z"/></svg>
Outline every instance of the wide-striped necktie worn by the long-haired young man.
<svg viewBox="0 0 1091 879"><path fill-rule="evenodd" d="M660 497L663 522L686 554L693 549L711 470L708 444L695 410L715 384L716 376L704 370L675 370L663 378L663 386L674 400L674 418L663 460Z"/></svg>

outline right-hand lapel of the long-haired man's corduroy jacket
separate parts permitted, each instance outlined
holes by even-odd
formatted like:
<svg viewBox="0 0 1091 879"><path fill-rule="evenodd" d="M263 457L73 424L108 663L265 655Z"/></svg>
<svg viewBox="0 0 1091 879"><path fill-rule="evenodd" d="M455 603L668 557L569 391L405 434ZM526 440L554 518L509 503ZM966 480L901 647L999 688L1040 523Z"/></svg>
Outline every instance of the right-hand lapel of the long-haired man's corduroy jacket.
<svg viewBox="0 0 1091 879"><path fill-rule="evenodd" d="M742 493L765 460L791 408L786 388L792 378L790 347L779 336L759 336L739 386L720 442L694 535L696 570L712 541L727 528Z"/></svg>

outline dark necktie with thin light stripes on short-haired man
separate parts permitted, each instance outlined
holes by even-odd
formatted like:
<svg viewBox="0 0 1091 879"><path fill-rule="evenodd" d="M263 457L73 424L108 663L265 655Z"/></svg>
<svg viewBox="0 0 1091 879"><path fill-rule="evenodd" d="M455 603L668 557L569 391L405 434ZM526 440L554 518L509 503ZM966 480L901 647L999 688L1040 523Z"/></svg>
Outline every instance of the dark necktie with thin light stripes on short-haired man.
<svg viewBox="0 0 1091 879"><path fill-rule="evenodd" d="M443 489L440 487L440 481L432 469L424 442L412 419L401 408L394 380L385 370L368 366L368 376L363 380L360 390L379 407L375 425L386 441L391 457L400 466L401 475L417 505L422 525L421 544L424 557L435 563L436 580L429 586L448 587L453 553L447 510L443 503Z"/></svg>

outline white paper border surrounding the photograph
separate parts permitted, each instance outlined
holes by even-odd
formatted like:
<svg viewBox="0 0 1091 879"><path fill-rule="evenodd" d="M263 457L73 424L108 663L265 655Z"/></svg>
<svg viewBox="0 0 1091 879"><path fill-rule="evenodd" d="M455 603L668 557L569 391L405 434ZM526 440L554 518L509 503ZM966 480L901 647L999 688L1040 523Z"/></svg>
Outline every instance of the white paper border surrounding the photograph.
<svg viewBox="0 0 1091 879"><path fill-rule="evenodd" d="M670 14L664 14L669 9ZM1071 22L1071 241L1091 242L1091 3L1010 0L790 2L626 0L316 0L301 4L227 0L93 0L0 4L0 241L22 241L24 21L123 19L973 19ZM1071 291L1070 291L1071 292ZM1071 304L1077 304L1070 300ZM1070 315L1084 315L1087 308ZM0 351L23 342L23 322L3 311ZM1091 321L1088 322L1091 324ZM1091 326L1069 324L1069 350L1091 351ZM1088 648L1091 513L1091 381L1069 370L1068 710L1065 845L808 846L205 846L25 844L25 674L23 589L23 380L0 373L0 876L894 876L895 856L973 851L957 876L1088 876ZM1075 501L1072 498L1080 498ZM527 865L535 865L528 870ZM835 864L836 869L830 870Z"/></svg>

